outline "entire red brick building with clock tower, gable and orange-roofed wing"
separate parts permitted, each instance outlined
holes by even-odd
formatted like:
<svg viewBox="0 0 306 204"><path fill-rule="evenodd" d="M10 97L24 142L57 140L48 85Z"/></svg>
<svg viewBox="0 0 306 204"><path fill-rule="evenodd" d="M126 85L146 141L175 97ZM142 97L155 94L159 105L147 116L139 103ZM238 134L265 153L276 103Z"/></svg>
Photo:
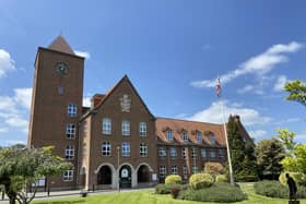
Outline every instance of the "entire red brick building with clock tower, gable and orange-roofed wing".
<svg viewBox="0 0 306 204"><path fill-rule="evenodd" d="M84 58L62 36L38 48L28 146L55 146L73 164L62 177L42 181L52 189L149 187L170 173L185 180L205 163L226 161L222 124L153 116L125 75L83 107ZM239 118L242 135L250 140Z"/></svg>

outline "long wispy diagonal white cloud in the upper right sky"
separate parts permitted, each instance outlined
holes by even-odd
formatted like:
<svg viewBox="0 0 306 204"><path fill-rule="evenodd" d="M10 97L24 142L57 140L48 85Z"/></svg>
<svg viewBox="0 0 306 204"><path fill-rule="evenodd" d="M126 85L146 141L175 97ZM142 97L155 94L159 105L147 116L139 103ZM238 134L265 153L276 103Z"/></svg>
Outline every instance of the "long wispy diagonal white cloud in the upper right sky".
<svg viewBox="0 0 306 204"><path fill-rule="evenodd" d="M274 45L264 52L251 57L247 61L243 62L238 69L221 75L220 80L222 84L226 84L232 80L245 74L263 75L270 72L275 65L287 62L289 57L285 53L296 52L303 47L303 44L296 41L292 41L287 45ZM195 87L214 87L215 80L195 81L191 82L191 85Z"/></svg>

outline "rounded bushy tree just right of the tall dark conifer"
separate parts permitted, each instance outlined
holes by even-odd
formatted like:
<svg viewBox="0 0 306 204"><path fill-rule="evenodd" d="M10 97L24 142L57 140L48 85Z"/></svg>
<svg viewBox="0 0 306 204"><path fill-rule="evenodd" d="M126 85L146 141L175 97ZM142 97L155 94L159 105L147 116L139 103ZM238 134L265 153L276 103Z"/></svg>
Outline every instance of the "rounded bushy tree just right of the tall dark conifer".
<svg viewBox="0 0 306 204"><path fill-rule="evenodd" d="M260 141L256 157L260 178L276 180L283 170L280 161L285 157L282 143L276 139Z"/></svg>

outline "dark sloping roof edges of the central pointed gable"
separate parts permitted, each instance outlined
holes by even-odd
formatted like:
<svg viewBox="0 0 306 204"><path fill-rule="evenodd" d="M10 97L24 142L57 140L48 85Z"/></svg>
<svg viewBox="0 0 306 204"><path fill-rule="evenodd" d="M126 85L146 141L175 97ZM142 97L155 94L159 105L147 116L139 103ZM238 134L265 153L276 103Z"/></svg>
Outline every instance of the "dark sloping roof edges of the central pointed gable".
<svg viewBox="0 0 306 204"><path fill-rule="evenodd" d="M140 97L140 95L138 94L137 89L134 88L134 86L132 85L131 81L129 80L129 77L127 75L125 75L114 87L111 87L105 95L104 97L101 99L101 101L93 108L92 112L94 112L95 110L97 110L109 97L110 95L120 86L120 84L123 82L123 81L127 81L131 88L132 88L132 92L134 92L134 94L137 95L137 97L140 99L140 101L142 103L143 107L145 108L145 110L149 112L149 115L152 117L152 118L155 118L151 111L149 110L149 108L146 107L146 105L144 104L144 101L142 100L142 98Z"/></svg>

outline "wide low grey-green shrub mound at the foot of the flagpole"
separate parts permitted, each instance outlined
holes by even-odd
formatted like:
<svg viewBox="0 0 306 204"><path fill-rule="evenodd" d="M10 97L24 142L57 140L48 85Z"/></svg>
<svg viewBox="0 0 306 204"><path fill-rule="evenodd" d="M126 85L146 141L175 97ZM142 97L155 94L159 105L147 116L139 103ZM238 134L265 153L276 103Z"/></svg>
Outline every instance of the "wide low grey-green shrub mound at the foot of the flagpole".
<svg viewBox="0 0 306 204"><path fill-rule="evenodd" d="M200 202L237 202L246 200L247 195L229 183L219 183L207 189L188 189L180 192L179 199Z"/></svg>

